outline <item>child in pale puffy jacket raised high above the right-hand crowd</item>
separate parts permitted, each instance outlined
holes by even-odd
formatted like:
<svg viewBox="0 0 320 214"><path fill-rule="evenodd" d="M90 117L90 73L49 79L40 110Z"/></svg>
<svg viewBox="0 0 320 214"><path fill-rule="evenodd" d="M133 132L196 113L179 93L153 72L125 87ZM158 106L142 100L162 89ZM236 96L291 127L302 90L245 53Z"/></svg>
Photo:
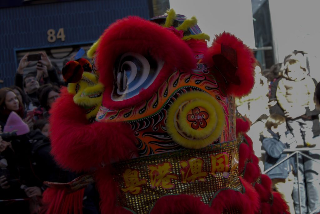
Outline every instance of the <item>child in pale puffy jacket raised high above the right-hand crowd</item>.
<svg viewBox="0 0 320 214"><path fill-rule="evenodd" d="M295 52L286 56L284 68L284 78L278 83L276 98L285 112L288 126L297 140L297 147L310 146L314 144L313 121L306 116L306 112L315 109L315 83L308 76L304 53Z"/></svg>

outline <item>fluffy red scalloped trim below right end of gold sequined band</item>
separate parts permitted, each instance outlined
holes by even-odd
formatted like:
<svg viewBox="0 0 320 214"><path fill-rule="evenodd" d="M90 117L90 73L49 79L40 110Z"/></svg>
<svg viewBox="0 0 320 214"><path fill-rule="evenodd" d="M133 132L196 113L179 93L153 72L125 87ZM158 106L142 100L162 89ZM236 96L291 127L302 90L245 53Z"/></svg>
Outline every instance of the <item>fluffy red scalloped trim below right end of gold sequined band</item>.
<svg viewBox="0 0 320 214"><path fill-rule="evenodd" d="M242 214L253 214L258 212L260 207L259 195L251 184L240 177L244 186L245 193L242 194L235 190L223 190L216 195L211 207L214 213L222 213L224 210L239 210Z"/></svg>

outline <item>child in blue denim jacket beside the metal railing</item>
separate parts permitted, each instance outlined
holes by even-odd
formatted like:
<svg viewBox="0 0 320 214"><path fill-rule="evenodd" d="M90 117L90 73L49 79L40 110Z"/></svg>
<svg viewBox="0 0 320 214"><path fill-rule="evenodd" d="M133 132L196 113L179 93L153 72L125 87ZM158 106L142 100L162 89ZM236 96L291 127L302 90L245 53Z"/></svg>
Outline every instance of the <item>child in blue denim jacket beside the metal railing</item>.
<svg viewBox="0 0 320 214"><path fill-rule="evenodd" d="M295 139L292 134L287 132L285 117L281 115L271 114L267 119L266 128L269 136L265 134L262 140L262 147L267 152L264 167L265 170L268 170L288 156L288 153L283 153L283 150L290 148L290 144L295 143ZM267 175L272 180L273 188L284 195L284 200L287 201L290 213L294 213L291 196L294 183L294 166L294 159L289 158L267 172Z"/></svg>

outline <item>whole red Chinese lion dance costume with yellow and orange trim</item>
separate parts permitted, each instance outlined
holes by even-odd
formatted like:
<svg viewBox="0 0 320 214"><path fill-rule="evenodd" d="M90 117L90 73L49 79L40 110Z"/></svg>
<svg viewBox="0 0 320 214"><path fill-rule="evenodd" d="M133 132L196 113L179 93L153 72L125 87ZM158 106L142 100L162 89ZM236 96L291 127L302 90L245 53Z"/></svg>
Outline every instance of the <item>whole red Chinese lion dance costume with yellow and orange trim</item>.
<svg viewBox="0 0 320 214"><path fill-rule="evenodd" d="M92 63L64 67L52 154L92 173L83 183L96 182L102 213L288 213L245 141L248 123L236 124L234 98L252 89L254 56L232 34L209 48L206 40L195 17L172 9L132 16L104 31L88 51ZM70 205L72 195L82 199L76 186L49 188L44 201L60 206L47 213L81 213Z"/></svg>

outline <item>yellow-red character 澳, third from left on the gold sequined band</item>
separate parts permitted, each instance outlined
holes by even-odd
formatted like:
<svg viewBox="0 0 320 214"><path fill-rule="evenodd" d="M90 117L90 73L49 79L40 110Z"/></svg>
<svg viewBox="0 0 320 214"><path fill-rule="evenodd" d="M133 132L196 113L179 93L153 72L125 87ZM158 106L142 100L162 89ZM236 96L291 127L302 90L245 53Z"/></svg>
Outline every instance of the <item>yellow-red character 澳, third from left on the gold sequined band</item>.
<svg viewBox="0 0 320 214"><path fill-rule="evenodd" d="M180 161L182 175L182 183L205 181L208 173L202 171L203 159L202 158L190 158L188 161Z"/></svg>

